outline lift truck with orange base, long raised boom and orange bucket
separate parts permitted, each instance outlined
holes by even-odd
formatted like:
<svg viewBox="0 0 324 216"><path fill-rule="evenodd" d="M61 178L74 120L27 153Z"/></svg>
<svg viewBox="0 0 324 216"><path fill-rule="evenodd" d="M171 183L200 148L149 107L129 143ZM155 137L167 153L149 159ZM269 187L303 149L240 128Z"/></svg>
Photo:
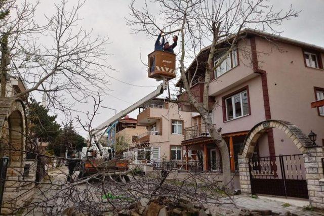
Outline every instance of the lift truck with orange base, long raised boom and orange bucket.
<svg viewBox="0 0 324 216"><path fill-rule="evenodd" d="M176 55L173 53L154 51L148 55L148 77L154 78L157 81L163 80L163 83L158 85L157 89L154 92L129 106L127 109L120 111L119 113L112 116L93 129L91 133L92 144L90 147L85 147L87 148L87 156L83 155L83 158L81 160L81 174L79 175L79 177L82 178L96 174L98 170L102 173L109 174L116 171L119 171L120 173L121 171L128 170L128 160L113 157L111 148L109 153L109 149L107 149L109 147L103 147L100 144L99 140L106 132L106 129L114 122L125 117L128 113L143 106L145 103L163 94L164 91L167 90L168 80L176 77L175 61ZM97 136L100 136L100 138L98 139Z"/></svg>

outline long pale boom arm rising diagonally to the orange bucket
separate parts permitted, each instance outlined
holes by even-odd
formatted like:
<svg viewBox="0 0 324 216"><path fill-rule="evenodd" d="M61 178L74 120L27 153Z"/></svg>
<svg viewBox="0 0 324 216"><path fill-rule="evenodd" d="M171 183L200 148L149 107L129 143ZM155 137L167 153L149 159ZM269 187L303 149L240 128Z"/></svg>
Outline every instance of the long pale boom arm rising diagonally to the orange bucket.
<svg viewBox="0 0 324 216"><path fill-rule="evenodd" d="M167 89L167 80L164 80L163 83L158 85L157 89L154 92L148 94L147 96L145 96L141 100L137 101L136 103L129 106L125 110L122 110L122 111L118 112L116 115L112 116L111 118L109 118L105 122L101 123L96 128L94 128L92 130L92 132L91 132L91 136L93 137L93 139L95 141L95 144L97 145L97 147L98 147L98 149L100 151L100 155L102 155L102 148L101 148L102 145L99 144L99 140L103 136L103 134L102 134L102 136L100 136L99 139L97 139L96 135L98 133L100 133L103 129L106 129L108 126L110 126L113 122L125 117L128 113L133 112L134 110L136 110L140 106L143 106L146 102L148 102L148 101L156 98L157 96L163 94L164 90L166 90L166 89Z"/></svg>

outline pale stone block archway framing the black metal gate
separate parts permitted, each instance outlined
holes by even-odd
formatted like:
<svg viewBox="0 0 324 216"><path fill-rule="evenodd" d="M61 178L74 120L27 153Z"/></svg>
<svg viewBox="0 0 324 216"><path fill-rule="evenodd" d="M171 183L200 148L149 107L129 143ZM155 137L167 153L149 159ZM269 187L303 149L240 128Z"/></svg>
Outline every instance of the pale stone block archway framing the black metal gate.
<svg viewBox="0 0 324 216"><path fill-rule="evenodd" d="M324 176L321 163L321 159L324 157L323 149L322 147L314 146L298 126L288 121L270 119L259 122L250 130L244 141L244 149L238 155L241 191L243 193L251 193L249 158L252 157L259 137L270 128L278 128L284 131L287 137L293 141L303 154L309 200L312 205L324 208Z"/></svg>

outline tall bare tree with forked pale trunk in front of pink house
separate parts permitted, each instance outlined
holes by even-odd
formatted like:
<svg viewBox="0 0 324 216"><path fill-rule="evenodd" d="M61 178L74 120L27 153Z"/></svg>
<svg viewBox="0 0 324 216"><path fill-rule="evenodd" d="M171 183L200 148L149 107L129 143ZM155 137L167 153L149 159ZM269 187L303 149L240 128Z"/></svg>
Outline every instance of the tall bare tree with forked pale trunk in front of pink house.
<svg viewBox="0 0 324 216"><path fill-rule="evenodd" d="M151 5L146 1L141 9L136 9L134 0L130 4L128 25L132 26L135 33L145 32L148 35L155 35L155 32L164 30L166 35L174 32L180 34L178 60L181 82L188 94L189 103L200 113L211 137L220 149L223 184L226 186L230 181L229 152L209 115L208 92L211 74L235 49L244 28L270 29L272 33L280 33L275 30L275 26L280 25L284 20L296 17L299 12L292 7L287 11L275 11L266 0L152 0L150 3L154 4L155 8L159 8L156 14L150 13ZM226 44L225 48L217 46L221 42ZM188 76L186 61L193 59L196 49L202 49L206 44L209 45L207 62L200 62L205 65L202 76L205 82L203 102L199 102L190 91L190 83L197 78L196 72L193 72L193 76ZM214 64L215 54L219 55L220 59Z"/></svg>

